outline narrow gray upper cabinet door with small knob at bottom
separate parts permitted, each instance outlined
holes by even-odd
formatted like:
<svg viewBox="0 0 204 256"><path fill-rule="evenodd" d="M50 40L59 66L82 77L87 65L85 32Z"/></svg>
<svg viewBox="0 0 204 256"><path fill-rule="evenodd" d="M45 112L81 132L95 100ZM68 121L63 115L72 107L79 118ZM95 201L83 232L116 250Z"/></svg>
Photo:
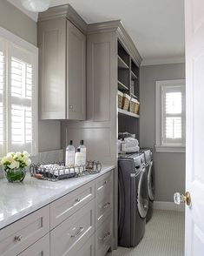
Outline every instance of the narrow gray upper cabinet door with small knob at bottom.
<svg viewBox="0 0 204 256"><path fill-rule="evenodd" d="M67 21L67 118L86 115L86 37Z"/></svg>

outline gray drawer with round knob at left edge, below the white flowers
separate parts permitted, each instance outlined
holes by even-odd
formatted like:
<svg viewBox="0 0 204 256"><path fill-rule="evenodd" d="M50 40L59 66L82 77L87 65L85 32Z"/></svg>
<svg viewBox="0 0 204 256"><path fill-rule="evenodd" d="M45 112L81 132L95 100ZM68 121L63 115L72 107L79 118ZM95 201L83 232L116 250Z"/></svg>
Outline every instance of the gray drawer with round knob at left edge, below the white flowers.
<svg viewBox="0 0 204 256"><path fill-rule="evenodd" d="M0 231L0 255L16 256L49 232L49 205Z"/></svg>

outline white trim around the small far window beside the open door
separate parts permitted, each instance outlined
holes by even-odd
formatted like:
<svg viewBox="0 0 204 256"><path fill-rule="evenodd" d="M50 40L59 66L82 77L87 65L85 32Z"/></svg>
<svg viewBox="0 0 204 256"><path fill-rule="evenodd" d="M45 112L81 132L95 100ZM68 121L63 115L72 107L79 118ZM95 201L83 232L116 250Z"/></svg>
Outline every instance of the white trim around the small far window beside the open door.
<svg viewBox="0 0 204 256"><path fill-rule="evenodd" d="M161 142L161 88L185 84L185 79L163 80L155 82L155 151L156 152L185 152L185 145L162 145ZM184 110L185 111L185 110Z"/></svg>

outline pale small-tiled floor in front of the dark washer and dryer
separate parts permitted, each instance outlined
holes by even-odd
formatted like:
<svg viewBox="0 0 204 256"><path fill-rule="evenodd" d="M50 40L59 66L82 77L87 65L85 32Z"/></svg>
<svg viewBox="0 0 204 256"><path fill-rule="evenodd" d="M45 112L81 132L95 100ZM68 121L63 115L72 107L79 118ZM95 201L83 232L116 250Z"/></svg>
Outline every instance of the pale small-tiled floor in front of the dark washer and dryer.
<svg viewBox="0 0 204 256"><path fill-rule="evenodd" d="M183 256L184 212L155 211L141 243L135 248L118 247L109 256Z"/></svg>

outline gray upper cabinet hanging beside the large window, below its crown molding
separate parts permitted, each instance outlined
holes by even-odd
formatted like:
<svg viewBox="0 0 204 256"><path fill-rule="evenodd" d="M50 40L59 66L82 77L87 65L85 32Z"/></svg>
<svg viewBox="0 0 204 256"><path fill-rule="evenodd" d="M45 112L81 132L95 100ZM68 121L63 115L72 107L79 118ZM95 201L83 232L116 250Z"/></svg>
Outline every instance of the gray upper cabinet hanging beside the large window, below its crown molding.
<svg viewBox="0 0 204 256"><path fill-rule="evenodd" d="M86 36L52 12L38 21L40 118L84 120Z"/></svg>

